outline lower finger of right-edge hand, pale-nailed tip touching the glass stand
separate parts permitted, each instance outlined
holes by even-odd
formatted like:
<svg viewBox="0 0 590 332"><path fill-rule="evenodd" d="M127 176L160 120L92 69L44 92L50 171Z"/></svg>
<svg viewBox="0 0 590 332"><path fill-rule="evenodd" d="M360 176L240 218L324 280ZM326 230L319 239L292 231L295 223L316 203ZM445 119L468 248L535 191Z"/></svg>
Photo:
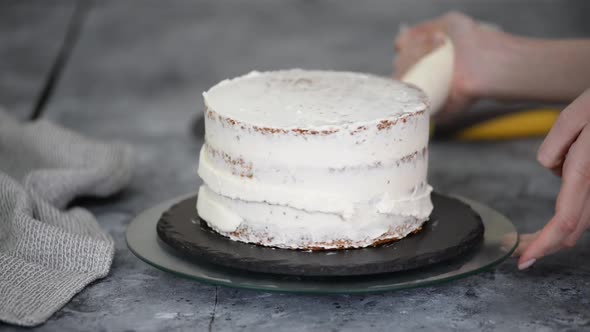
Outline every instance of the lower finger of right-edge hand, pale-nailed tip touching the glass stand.
<svg viewBox="0 0 590 332"><path fill-rule="evenodd" d="M539 236L523 252L519 268L523 269L536 259L573 245L586 229L586 206L590 192L590 127L579 134L566 151L563 180L557 196L555 216Z"/></svg>

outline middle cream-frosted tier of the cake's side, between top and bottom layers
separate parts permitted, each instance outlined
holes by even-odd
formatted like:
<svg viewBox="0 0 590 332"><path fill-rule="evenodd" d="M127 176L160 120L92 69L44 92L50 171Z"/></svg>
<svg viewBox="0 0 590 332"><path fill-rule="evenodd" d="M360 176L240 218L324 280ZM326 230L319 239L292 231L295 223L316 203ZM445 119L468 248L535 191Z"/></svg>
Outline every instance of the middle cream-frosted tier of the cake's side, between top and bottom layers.
<svg viewBox="0 0 590 332"><path fill-rule="evenodd" d="M384 213L418 218L428 217L432 209L426 148L379 165L342 169L268 167L235 160L243 159L204 144L199 176L213 191L229 198L335 213L345 219L352 217L358 203L372 202Z"/></svg>

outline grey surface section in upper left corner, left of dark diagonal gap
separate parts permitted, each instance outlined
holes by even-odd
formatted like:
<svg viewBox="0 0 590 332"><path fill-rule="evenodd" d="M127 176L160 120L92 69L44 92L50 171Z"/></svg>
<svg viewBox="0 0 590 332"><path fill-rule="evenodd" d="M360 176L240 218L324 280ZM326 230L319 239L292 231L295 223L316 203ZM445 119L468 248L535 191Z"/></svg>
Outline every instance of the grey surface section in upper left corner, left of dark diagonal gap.
<svg viewBox="0 0 590 332"><path fill-rule="evenodd" d="M75 0L0 3L0 105L20 119L32 114L74 4Z"/></svg>

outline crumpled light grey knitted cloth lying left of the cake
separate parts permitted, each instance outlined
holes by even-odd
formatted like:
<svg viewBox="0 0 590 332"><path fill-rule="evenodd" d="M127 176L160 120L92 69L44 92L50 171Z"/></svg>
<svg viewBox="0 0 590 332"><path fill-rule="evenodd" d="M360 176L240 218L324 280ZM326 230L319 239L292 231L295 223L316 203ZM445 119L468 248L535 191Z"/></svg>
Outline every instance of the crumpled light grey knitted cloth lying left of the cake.
<svg viewBox="0 0 590 332"><path fill-rule="evenodd" d="M129 146L86 139L0 109L0 321L45 322L109 273L113 239L79 196L110 195L133 170Z"/></svg>

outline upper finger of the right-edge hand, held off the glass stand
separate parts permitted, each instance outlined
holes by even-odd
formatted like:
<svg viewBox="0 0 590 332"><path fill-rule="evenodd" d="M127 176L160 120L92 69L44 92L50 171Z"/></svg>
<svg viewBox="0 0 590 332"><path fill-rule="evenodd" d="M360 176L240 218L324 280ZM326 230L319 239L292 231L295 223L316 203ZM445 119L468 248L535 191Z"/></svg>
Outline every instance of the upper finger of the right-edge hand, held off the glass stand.
<svg viewBox="0 0 590 332"><path fill-rule="evenodd" d="M555 169L565 160L570 145L590 120L590 90L563 110L541 144L537 159L541 165Z"/></svg>

